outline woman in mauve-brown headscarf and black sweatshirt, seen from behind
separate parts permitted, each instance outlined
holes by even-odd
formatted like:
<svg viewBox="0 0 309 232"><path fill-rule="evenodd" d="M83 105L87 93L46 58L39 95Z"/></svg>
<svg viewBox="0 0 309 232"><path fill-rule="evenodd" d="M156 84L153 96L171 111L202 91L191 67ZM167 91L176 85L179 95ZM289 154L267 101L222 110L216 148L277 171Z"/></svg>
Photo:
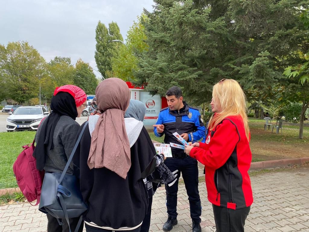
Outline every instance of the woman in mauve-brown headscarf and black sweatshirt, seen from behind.
<svg viewBox="0 0 309 232"><path fill-rule="evenodd" d="M86 231L137 232L148 206L143 178L155 168L155 148L141 121L124 118L130 93L123 80L102 81L95 96L103 114L89 116L73 159L89 205Z"/></svg>

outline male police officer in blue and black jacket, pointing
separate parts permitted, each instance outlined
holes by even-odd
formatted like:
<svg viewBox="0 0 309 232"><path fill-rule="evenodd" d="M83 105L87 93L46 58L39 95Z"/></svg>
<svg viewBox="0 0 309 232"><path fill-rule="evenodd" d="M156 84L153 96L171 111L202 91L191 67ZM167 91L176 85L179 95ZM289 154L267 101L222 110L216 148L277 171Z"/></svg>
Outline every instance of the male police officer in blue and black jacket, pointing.
<svg viewBox="0 0 309 232"><path fill-rule="evenodd" d="M181 144L173 135L175 132L187 142L200 140L205 134L203 120L197 109L183 101L181 89L177 86L169 88L166 99L168 107L160 111L157 123L153 125L155 135L161 137L164 134L166 144L170 142ZM173 157L168 157L164 163L172 172L178 170L177 183L171 186L165 185L168 218L163 230L170 231L177 224L177 192L181 172L190 203L193 232L200 232L201 200L198 192L197 161L187 156L182 149L172 147L171 151Z"/></svg>

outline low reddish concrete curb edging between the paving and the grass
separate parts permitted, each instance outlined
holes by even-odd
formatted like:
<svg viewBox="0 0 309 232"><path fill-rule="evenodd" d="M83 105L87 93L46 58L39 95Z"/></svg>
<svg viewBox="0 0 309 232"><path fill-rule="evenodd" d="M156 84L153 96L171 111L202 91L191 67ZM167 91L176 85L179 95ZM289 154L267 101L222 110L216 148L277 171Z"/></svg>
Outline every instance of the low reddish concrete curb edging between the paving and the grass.
<svg viewBox="0 0 309 232"><path fill-rule="evenodd" d="M286 167L290 165L300 165L300 164L307 163L307 162L309 162L309 157L252 162L249 170L252 171L252 170L258 170L258 169ZM204 165L202 165L200 162L198 162L198 165L200 167L204 167ZM19 188L0 189L0 196L6 195L6 194L13 194L14 192L20 192L20 189Z"/></svg>

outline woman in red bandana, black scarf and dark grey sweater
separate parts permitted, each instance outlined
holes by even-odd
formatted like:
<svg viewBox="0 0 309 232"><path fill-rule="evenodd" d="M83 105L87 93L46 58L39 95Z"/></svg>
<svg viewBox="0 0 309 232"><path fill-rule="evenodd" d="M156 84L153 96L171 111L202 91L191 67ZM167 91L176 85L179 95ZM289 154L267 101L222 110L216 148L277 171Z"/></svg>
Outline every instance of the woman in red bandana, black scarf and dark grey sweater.
<svg viewBox="0 0 309 232"><path fill-rule="evenodd" d="M86 93L75 85L64 85L55 89L50 103L52 112L44 119L35 136L36 148L33 156L36 157L36 167L45 172L61 173L73 150L75 137L80 125L75 121L85 108ZM74 174L73 164L67 170ZM66 221L59 225L57 219L47 214L48 232L69 231ZM78 223L78 218L70 218L72 231ZM80 226L79 232L83 231Z"/></svg>

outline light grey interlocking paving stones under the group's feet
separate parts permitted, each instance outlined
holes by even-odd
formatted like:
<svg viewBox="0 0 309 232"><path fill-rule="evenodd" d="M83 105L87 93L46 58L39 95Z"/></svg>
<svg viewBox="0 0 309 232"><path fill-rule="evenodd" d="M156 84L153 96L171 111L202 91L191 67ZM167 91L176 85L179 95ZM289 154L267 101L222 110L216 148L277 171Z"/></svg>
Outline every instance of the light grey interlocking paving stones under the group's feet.
<svg viewBox="0 0 309 232"><path fill-rule="evenodd" d="M202 168L200 168L200 173ZM309 231L309 168L257 174L251 178L254 202L246 220L245 232ZM202 204L202 232L215 232L212 206L207 200L205 182L199 183ZM178 225L172 232L192 231L188 196L183 183L178 192ZM150 232L162 231L167 219L165 189L153 197ZM0 232L43 232L47 218L38 206L29 203L0 205ZM85 230L84 230L85 231Z"/></svg>

